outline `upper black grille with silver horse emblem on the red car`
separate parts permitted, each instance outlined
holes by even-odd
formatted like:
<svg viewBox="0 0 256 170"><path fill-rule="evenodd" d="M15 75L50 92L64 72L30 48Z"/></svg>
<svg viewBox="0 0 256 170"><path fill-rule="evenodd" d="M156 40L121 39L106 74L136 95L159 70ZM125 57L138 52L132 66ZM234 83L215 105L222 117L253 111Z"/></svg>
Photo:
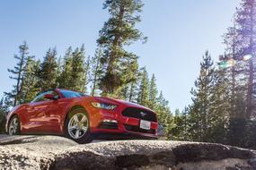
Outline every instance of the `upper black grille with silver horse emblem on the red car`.
<svg viewBox="0 0 256 170"><path fill-rule="evenodd" d="M156 115L146 109L127 107L122 111L122 115L156 123Z"/></svg>

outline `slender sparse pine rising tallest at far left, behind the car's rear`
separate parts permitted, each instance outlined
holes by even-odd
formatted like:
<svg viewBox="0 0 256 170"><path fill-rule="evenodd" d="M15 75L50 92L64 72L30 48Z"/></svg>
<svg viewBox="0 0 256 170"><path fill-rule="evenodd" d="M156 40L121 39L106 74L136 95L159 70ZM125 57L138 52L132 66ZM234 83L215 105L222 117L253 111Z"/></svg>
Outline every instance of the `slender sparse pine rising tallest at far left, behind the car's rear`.
<svg viewBox="0 0 256 170"><path fill-rule="evenodd" d="M24 72L26 71L27 62L32 58L32 56L29 55L29 47L26 42L23 42L19 49L20 55L14 55L14 58L18 60L18 63L13 69L8 69L8 72L13 74L13 76L10 76L10 79L16 81L15 85L11 92L4 93L8 98L13 99L13 106L16 106L21 100Z"/></svg>

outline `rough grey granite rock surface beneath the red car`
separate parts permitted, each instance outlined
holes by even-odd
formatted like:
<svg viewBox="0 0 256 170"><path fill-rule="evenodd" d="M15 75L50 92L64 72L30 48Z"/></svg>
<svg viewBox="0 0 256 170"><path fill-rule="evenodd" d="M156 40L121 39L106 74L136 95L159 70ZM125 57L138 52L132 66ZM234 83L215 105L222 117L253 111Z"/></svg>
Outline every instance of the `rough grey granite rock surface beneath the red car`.
<svg viewBox="0 0 256 170"><path fill-rule="evenodd" d="M0 136L0 169L256 170L256 152L185 141L78 145L57 136Z"/></svg>

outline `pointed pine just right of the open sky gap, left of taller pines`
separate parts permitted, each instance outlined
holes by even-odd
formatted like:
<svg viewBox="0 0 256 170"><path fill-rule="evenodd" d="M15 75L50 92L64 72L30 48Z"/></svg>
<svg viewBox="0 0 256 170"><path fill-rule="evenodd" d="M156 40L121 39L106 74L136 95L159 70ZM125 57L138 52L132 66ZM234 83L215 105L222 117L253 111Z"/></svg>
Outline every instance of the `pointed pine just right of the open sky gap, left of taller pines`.
<svg viewBox="0 0 256 170"><path fill-rule="evenodd" d="M196 128L190 131L196 132L195 136L199 141L205 141L207 137L207 116L210 109L210 98L213 93L214 83L214 67L211 56L208 52L203 56L203 62L200 64L200 74L197 81L195 81L196 89L191 89L193 95L192 101L192 124Z"/></svg>

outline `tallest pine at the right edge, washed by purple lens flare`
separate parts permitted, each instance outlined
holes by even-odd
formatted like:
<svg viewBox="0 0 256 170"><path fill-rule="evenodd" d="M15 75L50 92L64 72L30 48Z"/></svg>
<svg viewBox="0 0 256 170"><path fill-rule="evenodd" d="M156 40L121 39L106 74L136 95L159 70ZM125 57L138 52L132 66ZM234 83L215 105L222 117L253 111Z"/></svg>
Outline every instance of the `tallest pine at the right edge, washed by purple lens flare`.
<svg viewBox="0 0 256 170"><path fill-rule="evenodd" d="M242 0L236 9L234 26L225 33L225 57L222 58L224 61L234 61L230 68L224 69L229 81L229 91L226 94L229 95L230 102L227 142L240 147L253 143L252 117L256 115L255 7L255 0Z"/></svg>

